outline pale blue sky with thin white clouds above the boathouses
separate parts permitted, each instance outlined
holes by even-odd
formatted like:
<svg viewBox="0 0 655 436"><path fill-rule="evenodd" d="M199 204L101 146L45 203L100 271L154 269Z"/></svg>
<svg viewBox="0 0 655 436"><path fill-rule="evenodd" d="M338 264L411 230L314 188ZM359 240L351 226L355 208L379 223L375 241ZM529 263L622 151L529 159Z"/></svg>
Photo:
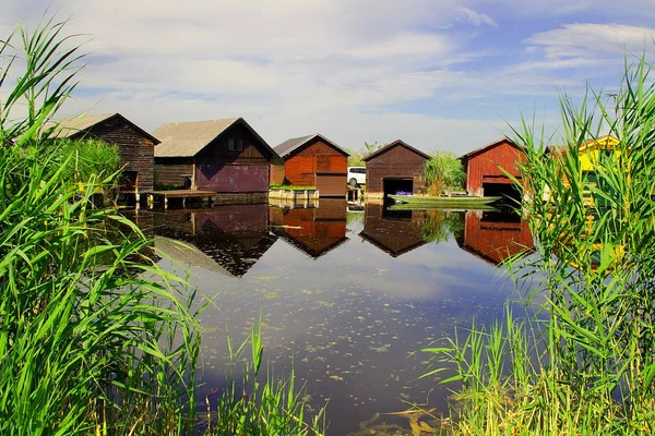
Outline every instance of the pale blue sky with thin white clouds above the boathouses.
<svg viewBox="0 0 655 436"><path fill-rule="evenodd" d="M457 155L548 132L558 95L611 93L655 58L655 0L0 0L0 35L70 17L87 65L61 116L243 117L272 146L321 133Z"/></svg>

